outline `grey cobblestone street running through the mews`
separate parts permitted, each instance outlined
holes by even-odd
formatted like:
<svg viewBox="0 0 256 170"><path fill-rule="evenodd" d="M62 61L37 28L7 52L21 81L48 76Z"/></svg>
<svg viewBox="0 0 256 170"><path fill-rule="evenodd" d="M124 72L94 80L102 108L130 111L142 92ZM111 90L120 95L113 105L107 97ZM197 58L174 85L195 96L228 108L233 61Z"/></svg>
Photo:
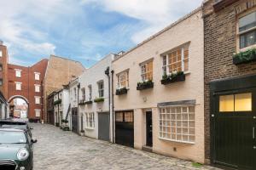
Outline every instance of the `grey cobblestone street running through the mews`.
<svg viewBox="0 0 256 170"><path fill-rule="evenodd" d="M192 162L80 137L51 125L32 124L35 170L196 169ZM216 169L199 167L200 169Z"/></svg>

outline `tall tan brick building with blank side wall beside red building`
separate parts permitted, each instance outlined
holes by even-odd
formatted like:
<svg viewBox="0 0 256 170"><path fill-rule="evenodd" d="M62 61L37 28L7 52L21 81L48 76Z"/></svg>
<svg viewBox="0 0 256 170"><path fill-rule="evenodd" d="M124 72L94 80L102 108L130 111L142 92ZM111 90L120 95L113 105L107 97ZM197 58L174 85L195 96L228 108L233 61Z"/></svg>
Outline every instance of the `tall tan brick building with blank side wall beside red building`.
<svg viewBox="0 0 256 170"><path fill-rule="evenodd" d="M44 103L47 103L47 97L54 91L63 88L74 77L78 77L85 70L84 66L72 59L66 59L51 55L44 78ZM44 105L44 120L49 122L47 114L47 105ZM50 116L51 117L51 116Z"/></svg>

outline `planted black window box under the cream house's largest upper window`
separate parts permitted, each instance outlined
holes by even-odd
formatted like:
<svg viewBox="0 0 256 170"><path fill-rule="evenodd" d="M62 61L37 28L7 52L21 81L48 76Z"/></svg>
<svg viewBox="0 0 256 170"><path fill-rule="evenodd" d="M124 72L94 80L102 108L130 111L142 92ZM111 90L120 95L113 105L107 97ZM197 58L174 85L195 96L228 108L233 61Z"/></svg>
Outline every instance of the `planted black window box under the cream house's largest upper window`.
<svg viewBox="0 0 256 170"><path fill-rule="evenodd" d="M172 71L172 73L162 77L161 84L170 84L173 82L183 82L185 81L185 75L183 71Z"/></svg>

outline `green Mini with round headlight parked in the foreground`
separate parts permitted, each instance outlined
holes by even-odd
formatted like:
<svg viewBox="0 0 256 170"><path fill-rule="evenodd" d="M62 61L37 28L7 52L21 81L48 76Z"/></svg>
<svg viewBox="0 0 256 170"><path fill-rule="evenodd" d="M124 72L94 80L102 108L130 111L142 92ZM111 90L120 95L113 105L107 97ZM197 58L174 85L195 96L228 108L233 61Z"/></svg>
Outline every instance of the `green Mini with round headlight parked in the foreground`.
<svg viewBox="0 0 256 170"><path fill-rule="evenodd" d="M33 143L26 130L0 127L0 169L32 170Z"/></svg>

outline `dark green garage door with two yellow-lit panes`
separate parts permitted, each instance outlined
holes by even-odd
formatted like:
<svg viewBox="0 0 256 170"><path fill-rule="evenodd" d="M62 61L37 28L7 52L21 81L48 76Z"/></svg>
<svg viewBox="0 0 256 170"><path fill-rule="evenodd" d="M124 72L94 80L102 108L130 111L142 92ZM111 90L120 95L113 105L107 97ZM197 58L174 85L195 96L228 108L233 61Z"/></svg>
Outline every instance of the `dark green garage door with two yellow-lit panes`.
<svg viewBox="0 0 256 170"><path fill-rule="evenodd" d="M256 169L256 89L216 93L212 106L213 162Z"/></svg>

